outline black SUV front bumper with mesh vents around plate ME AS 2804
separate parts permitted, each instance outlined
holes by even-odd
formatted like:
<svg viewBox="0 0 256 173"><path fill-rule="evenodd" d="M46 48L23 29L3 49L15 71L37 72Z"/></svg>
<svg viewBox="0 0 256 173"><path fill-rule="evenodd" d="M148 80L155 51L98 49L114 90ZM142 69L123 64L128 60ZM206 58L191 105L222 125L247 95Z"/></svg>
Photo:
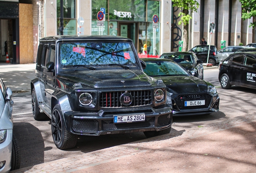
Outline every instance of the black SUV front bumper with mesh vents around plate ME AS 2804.
<svg viewBox="0 0 256 173"><path fill-rule="evenodd" d="M114 123L114 116L145 113L145 121L132 123ZM66 129L77 135L105 135L142 131L160 131L171 127L172 109L165 107L153 109L119 108L102 109L97 113L64 112Z"/></svg>

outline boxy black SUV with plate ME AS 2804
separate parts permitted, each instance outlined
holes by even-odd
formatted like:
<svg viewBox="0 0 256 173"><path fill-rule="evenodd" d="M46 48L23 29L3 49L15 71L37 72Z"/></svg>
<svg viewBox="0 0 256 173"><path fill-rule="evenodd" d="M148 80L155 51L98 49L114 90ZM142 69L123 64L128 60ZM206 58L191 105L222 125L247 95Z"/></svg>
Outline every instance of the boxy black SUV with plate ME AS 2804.
<svg viewBox="0 0 256 173"><path fill-rule="evenodd" d="M39 40L31 80L35 120L51 118L56 147L77 135L169 133L166 87L143 72L132 40L121 36L50 36Z"/></svg>

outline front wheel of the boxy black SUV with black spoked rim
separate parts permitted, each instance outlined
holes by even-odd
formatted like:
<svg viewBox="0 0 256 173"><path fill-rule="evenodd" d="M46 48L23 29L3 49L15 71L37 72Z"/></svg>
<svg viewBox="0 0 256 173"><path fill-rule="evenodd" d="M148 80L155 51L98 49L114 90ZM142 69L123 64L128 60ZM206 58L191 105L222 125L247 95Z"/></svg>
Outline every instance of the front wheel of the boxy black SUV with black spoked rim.
<svg viewBox="0 0 256 173"><path fill-rule="evenodd" d="M52 138L58 149L70 149L76 146L78 136L67 131L60 105L56 105L52 110L51 126Z"/></svg>

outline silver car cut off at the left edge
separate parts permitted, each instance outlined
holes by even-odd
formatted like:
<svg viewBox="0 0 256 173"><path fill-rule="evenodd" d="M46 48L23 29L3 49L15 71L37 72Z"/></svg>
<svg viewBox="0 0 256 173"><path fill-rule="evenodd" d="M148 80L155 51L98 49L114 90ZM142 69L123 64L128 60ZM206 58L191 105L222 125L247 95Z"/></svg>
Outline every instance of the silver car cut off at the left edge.
<svg viewBox="0 0 256 173"><path fill-rule="evenodd" d="M0 172L19 169L21 153L17 138L13 135L12 90L6 88L0 78Z"/></svg>

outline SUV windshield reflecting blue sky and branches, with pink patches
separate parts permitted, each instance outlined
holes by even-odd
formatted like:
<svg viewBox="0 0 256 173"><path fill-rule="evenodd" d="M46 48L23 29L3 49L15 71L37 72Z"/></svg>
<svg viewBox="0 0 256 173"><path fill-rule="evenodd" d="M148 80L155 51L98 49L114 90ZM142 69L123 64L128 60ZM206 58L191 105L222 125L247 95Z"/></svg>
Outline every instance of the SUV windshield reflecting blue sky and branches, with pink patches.
<svg viewBox="0 0 256 173"><path fill-rule="evenodd" d="M60 65L103 65L136 63L131 42L62 42Z"/></svg>

